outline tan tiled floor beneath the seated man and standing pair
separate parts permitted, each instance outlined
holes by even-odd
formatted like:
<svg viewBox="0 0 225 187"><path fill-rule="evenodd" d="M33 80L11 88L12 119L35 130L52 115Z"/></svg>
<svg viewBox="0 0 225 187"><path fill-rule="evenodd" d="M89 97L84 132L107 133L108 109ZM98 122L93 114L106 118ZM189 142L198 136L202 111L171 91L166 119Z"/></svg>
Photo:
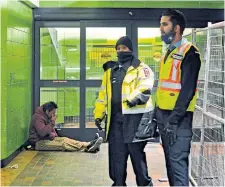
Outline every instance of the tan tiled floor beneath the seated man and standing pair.
<svg viewBox="0 0 225 187"><path fill-rule="evenodd" d="M153 178L154 185L167 186L167 182L158 181L159 178L166 177L161 146L154 143L148 144L146 153L149 174ZM24 151L9 165L13 164L18 164L18 168L1 169L2 185L110 186L112 184L108 176L107 144L103 144L97 154ZM127 185L136 185L130 160L128 161Z"/></svg>

